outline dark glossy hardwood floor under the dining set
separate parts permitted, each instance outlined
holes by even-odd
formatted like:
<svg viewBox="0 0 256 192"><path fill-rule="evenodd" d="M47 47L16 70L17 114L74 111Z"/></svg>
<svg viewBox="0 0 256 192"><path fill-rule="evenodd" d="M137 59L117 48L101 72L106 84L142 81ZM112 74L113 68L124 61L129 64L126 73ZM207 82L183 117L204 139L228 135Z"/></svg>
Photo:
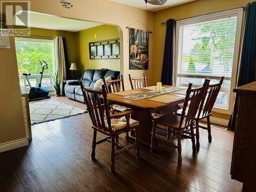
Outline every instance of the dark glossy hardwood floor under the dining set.
<svg viewBox="0 0 256 192"><path fill-rule="evenodd" d="M54 97L53 97L54 98ZM79 108L84 104L54 98ZM200 151L193 155L191 141L182 139L182 166L177 150L165 147L156 154L141 146L116 157L110 172L110 143L96 146L91 160L92 134L89 114L32 126L27 147L0 154L0 191L241 191L230 179L233 132L200 130ZM98 134L98 138L103 138ZM126 143L124 138L119 141Z"/></svg>

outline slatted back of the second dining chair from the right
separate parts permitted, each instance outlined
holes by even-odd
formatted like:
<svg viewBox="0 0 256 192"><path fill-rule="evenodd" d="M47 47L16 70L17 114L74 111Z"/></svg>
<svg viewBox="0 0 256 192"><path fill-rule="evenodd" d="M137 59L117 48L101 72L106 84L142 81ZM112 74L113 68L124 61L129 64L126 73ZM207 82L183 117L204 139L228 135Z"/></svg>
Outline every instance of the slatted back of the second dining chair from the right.
<svg viewBox="0 0 256 192"><path fill-rule="evenodd" d="M189 126L194 123L202 98L204 97L204 94L207 93L209 82L210 80L205 79L203 86L196 89L192 89L192 85L193 85L192 83L188 84L186 97L185 97L185 101L184 101L183 109L181 113L180 127L182 126L184 119L185 119L185 126ZM190 96L191 93L193 93L192 96ZM190 104L188 106L188 111L186 114L186 109L187 109L189 99L190 99Z"/></svg>

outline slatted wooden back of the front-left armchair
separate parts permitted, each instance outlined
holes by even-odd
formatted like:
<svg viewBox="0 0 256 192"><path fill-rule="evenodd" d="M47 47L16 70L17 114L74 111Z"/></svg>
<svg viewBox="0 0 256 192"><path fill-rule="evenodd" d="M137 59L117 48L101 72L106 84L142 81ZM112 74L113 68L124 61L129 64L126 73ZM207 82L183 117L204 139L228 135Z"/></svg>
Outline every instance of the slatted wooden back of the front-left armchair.
<svg viewBox="0 0 256 192"><path fill-rule="evenodd" d="M111 121L108 118L110 116L109 102L107 98L108 93L105 85L103 84L102 91L99 91L83 87L83 84L80 81L80 87L93 125L99 127L101 131L106 131L106 129L108 129L108 131L112 133ZM100 99L100 95L103 96L103 103ZM108 126L105 124L104 117L107 119Z"/></svg>

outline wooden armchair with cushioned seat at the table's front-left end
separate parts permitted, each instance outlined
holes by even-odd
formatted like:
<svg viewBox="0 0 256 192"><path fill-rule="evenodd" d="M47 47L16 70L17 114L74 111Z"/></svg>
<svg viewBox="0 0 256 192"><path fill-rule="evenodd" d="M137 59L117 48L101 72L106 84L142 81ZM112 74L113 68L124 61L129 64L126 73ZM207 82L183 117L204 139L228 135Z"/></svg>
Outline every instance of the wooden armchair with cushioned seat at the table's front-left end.
<svg viewBox="0 0 256 192"><path fill-rule="evenodd" d="M136 147L137 158L140 155L138 135L139 122L130 118L131 114L135 113L135 111L128 110L122 113L111 114L107 97L108 93L106 92L104 84L102 85L102 91L85 88L81 81L80 86L92 120L92 129L94 130L91 158L95 159L95 149L97 144L111 140L111 172L114 172L116 155L126 152L134 147ZM103 97L103 104L100 101L100 95ZM116 143L116 137L131 130L135 130L135 143L115 151L116 145L120 148L120 144ZM96 141L97 132L108 137Z"/></svg>

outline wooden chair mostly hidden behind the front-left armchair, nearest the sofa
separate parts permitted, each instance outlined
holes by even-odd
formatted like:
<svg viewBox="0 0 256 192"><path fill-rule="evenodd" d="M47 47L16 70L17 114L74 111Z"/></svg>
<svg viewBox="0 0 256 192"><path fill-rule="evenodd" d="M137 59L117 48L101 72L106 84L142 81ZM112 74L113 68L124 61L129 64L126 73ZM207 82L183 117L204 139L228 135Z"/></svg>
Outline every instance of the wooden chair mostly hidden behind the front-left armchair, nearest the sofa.
<svg viewBox="0 0 256 192"><path fill-rule="evenodd" d="M108 93L116 93L120 91L125 91L124 90L124 83L123 83L123 76L121 75L121 79L116 79L116 80L108 80L106 81L104 77L102 77L103 83L105 85L106 91ZM111 111L113 114L115 112L124 112L127 110L131 110L131 108L126 108L126 106L122 106L119 104L112 104L110 105ZM125 139L129 141L129 132L126 133Z"/></svg>

